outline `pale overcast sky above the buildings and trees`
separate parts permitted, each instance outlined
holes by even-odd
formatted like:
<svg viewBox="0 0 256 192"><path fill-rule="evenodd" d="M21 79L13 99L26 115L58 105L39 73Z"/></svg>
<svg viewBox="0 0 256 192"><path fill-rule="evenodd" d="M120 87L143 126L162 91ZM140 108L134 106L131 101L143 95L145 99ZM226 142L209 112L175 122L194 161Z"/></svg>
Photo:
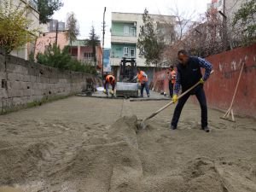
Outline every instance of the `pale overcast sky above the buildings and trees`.
<svg viewBox="0 0 256 192"><path fill-rule="evenodd" d="M64 6L55 12L53 19L65 21L67 13L74 12L79 20L79 38L88 38L91 26L95 26L96 34L102 40L102 22L106 7L105 47L110 47L111 12L143 14L145 8L149 14L172 15L172 9L179 10L194 18L207 10L211 0L62 0Z"/></svg>

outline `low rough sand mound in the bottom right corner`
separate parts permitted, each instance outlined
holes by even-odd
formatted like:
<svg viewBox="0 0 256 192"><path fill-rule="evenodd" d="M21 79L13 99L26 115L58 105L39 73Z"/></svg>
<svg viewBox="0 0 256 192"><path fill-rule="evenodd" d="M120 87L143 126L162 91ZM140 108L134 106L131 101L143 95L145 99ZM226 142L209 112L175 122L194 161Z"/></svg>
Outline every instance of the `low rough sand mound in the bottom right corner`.
<svg viewBox="0 0 256 192"><path fill-rule="evenodd" d="M224 160L214 162L206 157L190 160L183 171L186 185L191 192L238 192L255 191L253 167L242 162Z"/></svg>

